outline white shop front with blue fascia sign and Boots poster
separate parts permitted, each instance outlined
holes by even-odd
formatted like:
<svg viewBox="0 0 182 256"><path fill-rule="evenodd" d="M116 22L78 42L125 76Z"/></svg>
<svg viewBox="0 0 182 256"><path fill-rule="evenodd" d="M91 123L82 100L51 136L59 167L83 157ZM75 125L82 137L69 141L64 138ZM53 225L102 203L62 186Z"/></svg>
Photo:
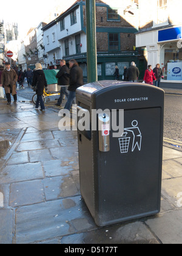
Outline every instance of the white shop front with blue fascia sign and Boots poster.
<svg viewBox="0 0 182 256"><path fill-rule="evenodd" d="M159 63L163 69L161 87L182 88L181 32L181 26L168 26L136 34L136 47L145 49L148 65Z"/></svg>

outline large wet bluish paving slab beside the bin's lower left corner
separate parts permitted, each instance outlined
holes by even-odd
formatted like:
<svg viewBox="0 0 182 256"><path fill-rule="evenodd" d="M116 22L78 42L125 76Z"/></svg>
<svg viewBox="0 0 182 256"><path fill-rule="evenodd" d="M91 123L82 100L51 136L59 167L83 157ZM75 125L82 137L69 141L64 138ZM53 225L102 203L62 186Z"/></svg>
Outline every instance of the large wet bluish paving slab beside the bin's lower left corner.
<svg viewBox="0 0 182 256"><path fill-rule="evenodd" d="M93 229L96 229L96 225L80 196L16 209L15 243L18 244Z"/></svg>

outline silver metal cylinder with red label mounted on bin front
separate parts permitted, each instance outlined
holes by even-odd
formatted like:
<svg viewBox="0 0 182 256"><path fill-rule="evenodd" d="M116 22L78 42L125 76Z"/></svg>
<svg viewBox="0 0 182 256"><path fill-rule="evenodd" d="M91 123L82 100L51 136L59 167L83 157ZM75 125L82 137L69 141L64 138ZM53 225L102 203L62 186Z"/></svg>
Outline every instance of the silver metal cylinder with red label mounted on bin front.
<svg viewBox="0 0 182 256"><path fill-rule="evenodd" d="M98 128L99 128L99 151L108 152L110 150L110 118L106 113L98 115Z"/></svg>

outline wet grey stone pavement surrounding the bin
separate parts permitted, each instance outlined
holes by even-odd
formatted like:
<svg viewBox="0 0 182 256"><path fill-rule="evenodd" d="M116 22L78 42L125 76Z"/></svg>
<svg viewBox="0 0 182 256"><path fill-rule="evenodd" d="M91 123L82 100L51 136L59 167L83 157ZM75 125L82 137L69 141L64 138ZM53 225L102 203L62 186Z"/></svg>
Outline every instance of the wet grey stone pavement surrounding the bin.
<svg viewBox="0 0 182 256"><path fill-rule="evenodd" d="M58 108L0 99L0 244L182 243L182 151L164 144L161 213L98 227L81 198L77 135Z"/></svg>

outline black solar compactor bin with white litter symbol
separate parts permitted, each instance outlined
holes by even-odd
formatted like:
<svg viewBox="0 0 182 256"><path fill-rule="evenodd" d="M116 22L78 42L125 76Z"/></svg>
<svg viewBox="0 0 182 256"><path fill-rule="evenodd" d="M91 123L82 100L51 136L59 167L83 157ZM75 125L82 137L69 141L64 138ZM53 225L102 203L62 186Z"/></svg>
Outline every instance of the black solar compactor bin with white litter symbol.
<svg viewBox="0 0 182 256"><path fill-rule="evenodd" d="M164 91L99 81L79 87L76 104L81 195L96 224L159 213Z"/></svg>

